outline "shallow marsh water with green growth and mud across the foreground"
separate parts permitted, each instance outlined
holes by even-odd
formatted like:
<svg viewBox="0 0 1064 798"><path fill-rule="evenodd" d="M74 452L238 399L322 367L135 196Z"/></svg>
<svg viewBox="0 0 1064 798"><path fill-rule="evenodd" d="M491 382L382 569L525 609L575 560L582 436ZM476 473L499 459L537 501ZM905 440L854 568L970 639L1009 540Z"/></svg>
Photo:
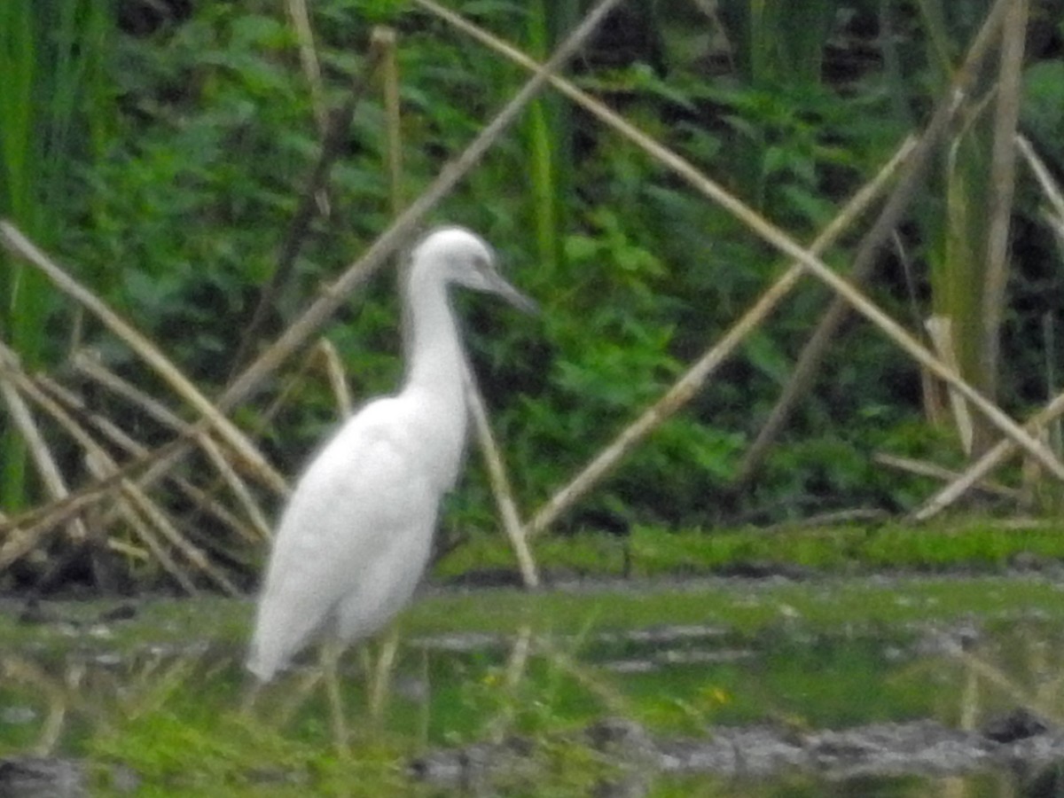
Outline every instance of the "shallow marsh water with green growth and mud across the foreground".
<svg viewBox="0 0 1064 798"><path fill-rule="evenodd" d="M1055 795L1061 608L1002 596L998 613L814 622L736 592L736 616L769 601L770 618L737 628L718 608L625 628L581 591L566 601L584 622L561 629L556 613L502 631L414 620L390 669L342 661L346 746L313 656L247 709L229 639L246 604L174 604L171 636L151 605L103 620L61 605L0 652L0 758L70 758L93 795ZM924 599L901 585L893 600Z"/></svg>

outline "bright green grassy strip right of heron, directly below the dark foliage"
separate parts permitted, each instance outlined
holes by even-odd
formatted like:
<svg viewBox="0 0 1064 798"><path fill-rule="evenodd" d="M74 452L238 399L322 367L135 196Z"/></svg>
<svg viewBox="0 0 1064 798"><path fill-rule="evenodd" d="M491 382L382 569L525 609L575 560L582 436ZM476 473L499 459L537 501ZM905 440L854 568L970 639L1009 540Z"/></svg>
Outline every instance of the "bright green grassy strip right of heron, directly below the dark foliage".
<svg viewBox="0 0 1064 798"><path fill-rule="evenodd" d="M991 572L1064 561L1064 523L980 518L934 527L888 523L679 532L637 526L625 536L583 532L543 537L535 541L533 552L545 571L568 576ZM442 580L461 580L496 570L517 573L505 539L478 536L445 556L435 575Z"/></svg>

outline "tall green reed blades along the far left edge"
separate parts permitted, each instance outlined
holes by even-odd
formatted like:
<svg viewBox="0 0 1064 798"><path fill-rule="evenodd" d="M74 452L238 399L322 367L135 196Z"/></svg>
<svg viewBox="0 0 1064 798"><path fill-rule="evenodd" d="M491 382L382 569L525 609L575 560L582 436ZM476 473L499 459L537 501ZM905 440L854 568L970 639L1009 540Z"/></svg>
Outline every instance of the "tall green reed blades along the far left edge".
<svg viewBox="0 0 1064 798"><path fill-rule="evenodd" d="M102 152L112 127L104 62L111 0L0 3L0 215L49 245L67 217L78 164ZM23 363L47 360L54 298L46 279L0 253L0 336ZM4 425L0 506L27 501L24 444Z"/></svg>

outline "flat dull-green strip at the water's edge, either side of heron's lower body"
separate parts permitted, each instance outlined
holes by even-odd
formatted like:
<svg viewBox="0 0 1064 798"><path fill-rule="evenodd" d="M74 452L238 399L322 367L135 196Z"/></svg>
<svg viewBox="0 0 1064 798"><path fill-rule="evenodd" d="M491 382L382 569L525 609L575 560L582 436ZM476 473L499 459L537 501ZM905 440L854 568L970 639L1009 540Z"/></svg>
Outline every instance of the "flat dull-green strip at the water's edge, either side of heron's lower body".
<svg viewBox="0 0 1064 798"><path fill-rule="evenodd" d="M180 653L212 648L239 655L250 601L148 599L127 619L111 620L114 600L47 604L47 622L24 622L15 602L0 612L7 650L35 655L74 650L129 654L146 647ZM968 618L1008 620L1036 610L1064 620L1062 583L1036 575L825 578L803 581L701 580L609 583L563 589L428 588L400 616L406 638L448 634L510 635L522 627L579 637L664 626L713 626L743 636L801 626L813 633L875 632ZM204 619L209 618L209 622Z"/></svg>

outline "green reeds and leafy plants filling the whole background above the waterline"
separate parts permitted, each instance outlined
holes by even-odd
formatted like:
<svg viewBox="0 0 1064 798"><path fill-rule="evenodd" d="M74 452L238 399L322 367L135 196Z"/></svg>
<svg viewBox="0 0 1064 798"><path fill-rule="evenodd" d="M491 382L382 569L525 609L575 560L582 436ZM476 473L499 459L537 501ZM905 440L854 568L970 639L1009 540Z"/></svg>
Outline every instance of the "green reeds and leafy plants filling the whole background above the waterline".
<svg viewBox="0 0 1064 798"><path fill-rule="evenodd" d="M194 7L163 2L148 9L134 2L115 17L102 0L85 2L82 11L78 3L56 3L62 24L54 36L47 35L48 20L36 12L19 16L15 9L23 5L3 12L21 20L2 26L2 35L21 37L6 43L4 57L22 53L26 61L0 65L17 77L0 87L0 111L14 120L0 132L0 214L37 237L146 332L207 397L223 392L242 344L255 351L280 335L320 285L386 228L395 196L416 197L526 78L413 2L313 3L320 92L309 86L316 79L303 61L306 41L277 4L210 0ZM567 73L796 239L810 240L905 134L926 123L992 5L929 1L895 9L826 0L799 9L722 0L717 13L709 13L689 2L628 4ZM543 56L587 3L453 7ZM1053 79L1062 62L1061 7L1061 0L1051 0L1032 12L1023 73L1021 131L1050 164L1062 162L1052 135L1062 99L1061 82ZM398 190L387 169L390 139L379 81L368 74L370 36L379 23L398 34L403 164ZM71 50L74 38L93 46ZM1000 49L1001 41L992 39L987 64L996 64ZM44 66L50 64L54 73ZM234 331L246 329L262 287L278 269L278 252L319 154L315 97L338 107L352 81L362 79L369 88L326 188L315 195L319 210L310 234L268 307L260 339L240 342ZM979 186L986 183L994 142L987 109L998 81L997 66L980 71L935 150L930 180L917 188L893 246L877 259L882 263L870 278L870 295L911 329L921 330L933 312L955 316L961 327L967 323L961 320L964 309L969 316L979 314L972 307L982 294L964 294L974 279L955 268L981 263L986 248L975 237L990 227L991 212L976 200L985 194ZM35 138L33 130L48 133ZM1064 272L1051 266L1059 253L1042 197L1020 170L1011 210L1010 296L1001 319L1004 367L996 392L1015 416L1054 392L1053 375L1061 370L1059 343L1049 337L1046 318L1060 304ZM47 219L34 223L38 216ZM553 92L529 106L431 215L431 221L442 220L482 232L500 250L515 283L544 306L538 319L508 315L505 323L497 315L504 310L475 302L463 307L470 355L526 515L656 401L784 265L734 216ZM866 229L867 220L859 228ZM859 242L854 230L826 257L846 271ZM4 342L28 365L60 376L62 387L84 402L71 411L76 418L113 420L121 434L149 449L172 438L173 430L157 415L131 409L97 383L85 387L80 368L70 378L65 369L78 362L72 355L87 349L188 418L181 400L96 320L51 297L43 284L31 293L51 297L44 304L19 293L39 281L35 271L13 264L3 275L12 281L6 295L18 311L0 316ZM326 331L356 401L390 389L399 377L393 287L390 278L372 280ZM716 531L839 509L896 513L937 487L926 477L882 467L876 453L950 468L965 462L941 386L921 382L919 370L893 344L854 326L852 334L832 337L826 367L792 413L785 435L752 481L736 488L741 459L788 381L827 299L812 281L801 285L746 339L733 362L551 532L634 528L636 573L656 573L663 567L658 552L670 548L684 552L694 572L736 560L829 570L848 567L851 560L862 568L933 568L951 561L997 567L1024 550L1026 544L996 542L978 531L965 542L946 532L853 529L827 533L830 545L791 531L763 539ZM964 346L981 347L983 337L965 335ZM969 348L958 354L965 364L980 356ZM311 359L300 360L286 364L234 412L284 475L295 473L335 418L328 381L305 370ZM97 478L84 464L83 442L30 403L69 485ZM94 439L124 462L135 447L97 427L90 430ZM5 434L12 429L4 425ZM19 445L6 445L0 494L11 514L44 501L54 486L46 489L45 480L27 479ZM199 480L201 491L216 495L217 480L203 476L213 473L213 466L203 465L202 459L186 459L170 476ZM502 561L493 543L480 539L496 527L495 502L480 463L470 458L469 465L443 526L452 534L461 530L470 543L443 564L444 576L468 568L477 558L485 565ZM1033 497L1033 509L1051 512L1051 492L1035 489L1042 477L1030 468L1010 468L995 477L1032 488L1026 495ZM192 499L173 479L160 480L151 491L180 534L226 579L242 587L251 583L261 535L238 534L217 517L204 521L201 505L190 511ZM270 516L276 488L252 485L251 491ZM1007 511L1014 505L1013 499L1001 502ZM161 544L178 563L167 568L154 544L121 513L104 515L106 539L90 538L88 545L110 546L117 579L147 588L172 585L173 571L187 566L186 549ZM704 534L675 539L659 534L692 528ZM1025 534L1034 553L1057 556L1050 532ZM587 556L597 556L601 547L619 569L618 549L605 541L592 544ZM77 561L64 543L62 535L43 536L37 547L43 556L22 558L18 569L0 576L0 587L35 584L52 573L53 555ZM552 549L568 544L564 536L537 542L548 566ZM207 581L188 567L193 582ZM63 581L54 573L48 578Z"/></svg>

